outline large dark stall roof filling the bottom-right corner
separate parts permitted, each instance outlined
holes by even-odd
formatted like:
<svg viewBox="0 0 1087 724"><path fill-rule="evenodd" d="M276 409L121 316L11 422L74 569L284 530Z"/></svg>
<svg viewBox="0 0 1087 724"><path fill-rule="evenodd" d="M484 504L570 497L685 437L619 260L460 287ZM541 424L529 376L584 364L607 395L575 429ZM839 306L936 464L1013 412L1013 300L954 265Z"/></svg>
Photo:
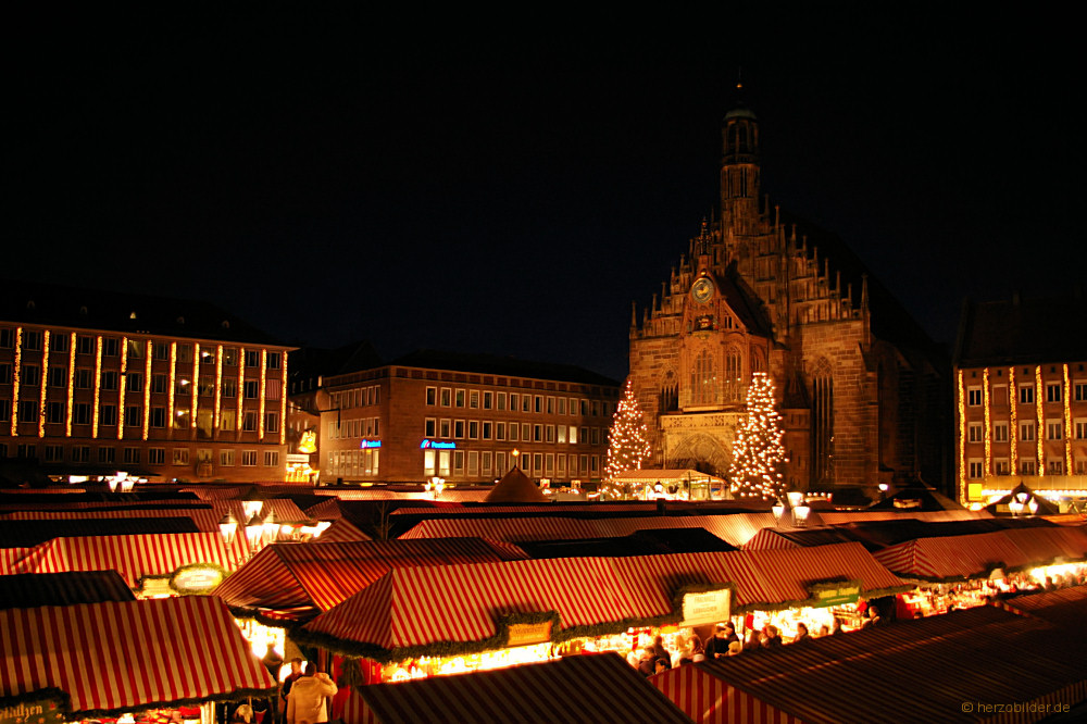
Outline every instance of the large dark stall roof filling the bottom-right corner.
<svg viewBox="0 0 1087 724"><path fill-rule="evenodd" d="M1085 614L1080 608L1080 621ZM682 691L688 714L695 710L683 702L705 700L714 678L747 699L736 719L711 711L697 721L762 721L761 703L804 722L973 722L988 717L963 704L996 703L997 695L1002 703L1087 697L1085 644L1082 626L980 607L694 664L701 675L686 689L675 686L675 671L649 681L672 696Z"/></svg>

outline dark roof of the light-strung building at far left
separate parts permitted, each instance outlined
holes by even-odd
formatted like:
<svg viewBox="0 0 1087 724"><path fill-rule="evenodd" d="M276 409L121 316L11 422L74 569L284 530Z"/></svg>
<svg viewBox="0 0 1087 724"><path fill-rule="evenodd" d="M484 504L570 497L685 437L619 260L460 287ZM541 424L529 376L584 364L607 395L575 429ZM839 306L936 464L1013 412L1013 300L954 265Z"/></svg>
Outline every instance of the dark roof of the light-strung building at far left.
<svg viewBox="0 0 1087 724"><path fill-rule="evenodd" d="M207 301L4 279L0 320L129 334L282 345Z"/></svg>

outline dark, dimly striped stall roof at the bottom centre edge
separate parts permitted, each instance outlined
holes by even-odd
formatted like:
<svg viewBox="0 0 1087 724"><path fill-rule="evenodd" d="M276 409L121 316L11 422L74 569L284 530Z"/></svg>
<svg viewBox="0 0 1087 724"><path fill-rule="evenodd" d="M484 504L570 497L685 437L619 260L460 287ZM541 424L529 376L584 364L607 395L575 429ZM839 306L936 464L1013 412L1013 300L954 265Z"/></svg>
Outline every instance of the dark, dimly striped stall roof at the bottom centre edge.
<svg viewBox="0 0 1087 724"><path fill-rule="evenodd" d="M689 722L614 653L375 684L359 691L368 712L347 709L345 724Z"/></svg>

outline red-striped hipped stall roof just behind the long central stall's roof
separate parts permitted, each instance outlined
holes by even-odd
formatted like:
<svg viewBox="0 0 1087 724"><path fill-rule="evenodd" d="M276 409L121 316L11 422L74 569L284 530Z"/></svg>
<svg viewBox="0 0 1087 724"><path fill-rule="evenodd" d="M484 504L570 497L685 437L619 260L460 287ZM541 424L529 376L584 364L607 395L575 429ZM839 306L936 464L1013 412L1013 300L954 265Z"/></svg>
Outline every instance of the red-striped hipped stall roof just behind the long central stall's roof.
<svg viewBox="0 0 1087 724"><path fill-rule="evenodd" d="M277 544L242 565L215 595L234 608L305 620L332 609L395 567L525 558L514 546L478 538Z"/></svg>

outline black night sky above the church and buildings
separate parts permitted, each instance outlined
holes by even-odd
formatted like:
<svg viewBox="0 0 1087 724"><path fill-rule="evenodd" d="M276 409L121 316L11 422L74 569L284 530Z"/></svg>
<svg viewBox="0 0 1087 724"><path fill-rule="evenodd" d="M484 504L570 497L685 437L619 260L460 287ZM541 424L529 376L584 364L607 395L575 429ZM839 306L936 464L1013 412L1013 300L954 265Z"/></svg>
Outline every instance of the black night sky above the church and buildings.
<svg viewBox="0 0 1087 724"><path fill-rule="evenodd" d="M1083 284L1072 24L834 8L13 26L3 275L205 298L386 359L621 378L632 300L714 204L742 64L763 191L842 237L938 340L964 296Z"/></svg>

